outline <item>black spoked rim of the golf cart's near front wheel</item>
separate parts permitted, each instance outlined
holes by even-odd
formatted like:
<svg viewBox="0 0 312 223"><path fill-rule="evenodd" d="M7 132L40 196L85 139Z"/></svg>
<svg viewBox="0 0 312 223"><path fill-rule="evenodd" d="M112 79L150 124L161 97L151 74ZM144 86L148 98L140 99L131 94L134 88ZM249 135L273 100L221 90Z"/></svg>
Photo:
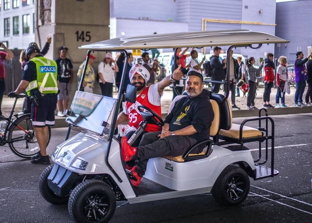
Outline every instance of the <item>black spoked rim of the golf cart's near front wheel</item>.
<svg viewBox="0 0 312 223"><path fill-rule="evenodd" d="M108 212L109 201L104 193L89 195L83 204L83 213L90 221L100 221Z"/></svg>

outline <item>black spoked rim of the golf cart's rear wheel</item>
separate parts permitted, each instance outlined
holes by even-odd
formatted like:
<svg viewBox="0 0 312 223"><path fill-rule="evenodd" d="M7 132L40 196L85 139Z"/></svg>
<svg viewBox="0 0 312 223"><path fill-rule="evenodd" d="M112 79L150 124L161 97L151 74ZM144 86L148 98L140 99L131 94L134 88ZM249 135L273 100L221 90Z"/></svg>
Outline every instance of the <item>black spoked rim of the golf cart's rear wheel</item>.
<svg viewBox="0 0 312 223"><path fill-rule="evenodd" d="M235 175L227 181L226 194L232 201L237 201L241 198L245 191L245 182L242 176Z"/></svg>

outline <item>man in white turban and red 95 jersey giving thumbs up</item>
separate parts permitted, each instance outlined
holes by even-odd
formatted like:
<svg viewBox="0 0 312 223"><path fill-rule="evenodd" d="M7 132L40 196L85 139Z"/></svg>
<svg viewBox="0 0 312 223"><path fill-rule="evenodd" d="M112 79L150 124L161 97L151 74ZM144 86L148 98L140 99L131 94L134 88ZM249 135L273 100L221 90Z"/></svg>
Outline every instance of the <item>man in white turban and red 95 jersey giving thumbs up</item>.
<svg viewBox="0 0 312 223"><path fill-rule="evenodd" d="M161 117L161 106L160 98L163 96L163 89L168 87L171 83L176 80L179 81L183 74L180 71L181 65L171 74L165 77L160 82L147 86L149 81L149 71L140 64L134 64L129 72L129 79L131 84L133 84L137 89L137 98L135 103L125 102L124 110L120 112L117 117L116 127L124 121L129 121L129 126L131 126L134 131L129 131L127 134L127 139L133 135L136 129L139 127L139 123L143 121L143 117L138 111L139 105L144 105L151 108ZM138 139L132 144L133 146L138 146L143 134L147 132L161 131L161 126L156 126L153 124L148 124L146 129L141 133Z"/></svg>

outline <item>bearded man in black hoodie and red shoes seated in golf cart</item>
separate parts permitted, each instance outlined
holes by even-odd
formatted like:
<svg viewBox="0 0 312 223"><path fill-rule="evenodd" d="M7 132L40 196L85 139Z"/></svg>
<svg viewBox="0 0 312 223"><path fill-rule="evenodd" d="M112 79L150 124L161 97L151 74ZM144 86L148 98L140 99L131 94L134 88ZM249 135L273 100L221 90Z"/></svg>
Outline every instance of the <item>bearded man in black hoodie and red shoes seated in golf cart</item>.
<svg viewBox="0 0 312 223"><path fill-rule="evenodd" d="M144 134L138 147L131 147L126 138L121 140L124 161L136 160L130 173L134 186L139 185L150 158L181 156L197 142L209 139L214 113L209 92L203 89L202 81L203 77L197 71L188 72L188 95L175 102L161 132ZM201 153L204 147L198 146L191 153Z"/></svg>

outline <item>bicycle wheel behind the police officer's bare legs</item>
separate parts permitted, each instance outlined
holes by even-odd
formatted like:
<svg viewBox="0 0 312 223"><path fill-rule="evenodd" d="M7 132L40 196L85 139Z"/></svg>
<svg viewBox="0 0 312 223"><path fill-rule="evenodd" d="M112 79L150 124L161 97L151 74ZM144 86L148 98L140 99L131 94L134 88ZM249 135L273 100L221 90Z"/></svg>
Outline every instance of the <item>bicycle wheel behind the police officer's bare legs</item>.
<svg viewBox="0 0 312 223"><path fill-rule="evenodd" d="M30 158L40 151L35 130L32 126L32 119L30 115L23 115L13 121L8 129L8 140L13 141L8 143L10 149L14 154L22 158ZM27 131L28 134L25 132ZM47 145L51 138L51 128L48 126L49 138Z"/></svg>

